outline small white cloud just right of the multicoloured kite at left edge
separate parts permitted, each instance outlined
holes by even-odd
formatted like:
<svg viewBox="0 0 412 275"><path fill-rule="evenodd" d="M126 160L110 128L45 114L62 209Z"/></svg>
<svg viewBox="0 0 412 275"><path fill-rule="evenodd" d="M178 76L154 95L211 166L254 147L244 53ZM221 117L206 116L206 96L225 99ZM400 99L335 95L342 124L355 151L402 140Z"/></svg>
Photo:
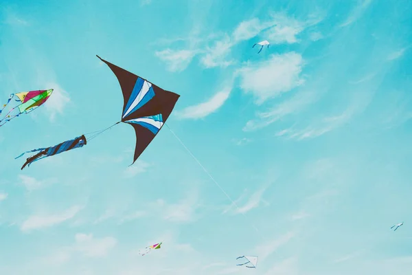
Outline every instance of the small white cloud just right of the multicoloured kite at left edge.
<svg viewBox="0 0 412 275"><path fill-rule="evenodd" d="M67 103L70 102L69 94L65 89L56 83L46 83L45 89L54 89L52 95L44 103L46 112L49 114L50 121L54 122L56 114L62 114Z"/></svg>

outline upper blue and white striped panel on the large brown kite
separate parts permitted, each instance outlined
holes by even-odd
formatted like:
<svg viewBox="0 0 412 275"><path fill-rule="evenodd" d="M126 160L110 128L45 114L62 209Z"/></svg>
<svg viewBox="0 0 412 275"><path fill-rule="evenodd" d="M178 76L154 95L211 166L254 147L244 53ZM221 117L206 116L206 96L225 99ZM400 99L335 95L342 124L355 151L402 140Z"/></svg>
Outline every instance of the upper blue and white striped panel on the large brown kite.
<svg viewBox="0 0 412 275"><path fill-rule="evenodd" d="M152 83L148 83L146 80L138 77L126 107L124 107L123 118L142 107L154 96L155 91L153 91Z"/></svg>

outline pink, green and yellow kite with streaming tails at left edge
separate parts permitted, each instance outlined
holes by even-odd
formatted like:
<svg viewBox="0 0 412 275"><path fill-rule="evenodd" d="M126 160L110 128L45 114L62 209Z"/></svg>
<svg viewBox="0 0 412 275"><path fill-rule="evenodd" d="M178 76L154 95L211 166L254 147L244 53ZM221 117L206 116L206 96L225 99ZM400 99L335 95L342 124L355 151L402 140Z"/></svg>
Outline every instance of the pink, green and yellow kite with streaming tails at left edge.
<svg viewBox="0 0 412 275"><path fill-rule="evenodd" d="M12 107L8 113L4 115L3 118L0 118L0 126L3 126L5 123L9 122L13 118L17 118L22 113L30 113L31 111L40 107L49 97L52 95L53 89L49 90L38 90L38 91L25 91L22 93L11 94L8 102L3 105L3 108L0 110L0 115L3 113L5 107L8 106L10 101L16 97L15 101L19 102L18 105ZM14 112L14 110L16 110Z"/></svg>

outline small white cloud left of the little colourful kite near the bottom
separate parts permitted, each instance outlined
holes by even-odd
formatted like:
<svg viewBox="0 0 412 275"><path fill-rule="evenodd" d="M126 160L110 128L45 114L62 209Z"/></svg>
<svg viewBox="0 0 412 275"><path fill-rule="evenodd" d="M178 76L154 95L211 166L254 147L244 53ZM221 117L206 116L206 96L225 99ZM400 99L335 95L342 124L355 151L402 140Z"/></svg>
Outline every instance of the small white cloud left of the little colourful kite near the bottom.
<svg viewBox="0 0 412 275"><path fill-rule="evenodd" d="M93 234L78 233L75 239L76 244L73 246L73 250L91 258L104 257L117 245L117 240L111 236L95 239Z"/></svg>

